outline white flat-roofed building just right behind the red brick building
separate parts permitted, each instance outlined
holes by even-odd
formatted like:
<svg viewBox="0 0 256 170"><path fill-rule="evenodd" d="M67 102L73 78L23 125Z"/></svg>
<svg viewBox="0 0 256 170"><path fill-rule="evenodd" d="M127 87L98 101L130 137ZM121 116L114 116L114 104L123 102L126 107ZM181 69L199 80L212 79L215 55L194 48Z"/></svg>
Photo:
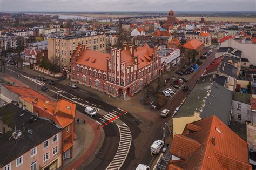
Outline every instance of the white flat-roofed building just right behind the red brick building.
<svg viewBox="0 0 256 170"><path fill-rule="evenodd" d="M180 61L180 49L161 49L158 53L161 63L177 64Z"/></svg>

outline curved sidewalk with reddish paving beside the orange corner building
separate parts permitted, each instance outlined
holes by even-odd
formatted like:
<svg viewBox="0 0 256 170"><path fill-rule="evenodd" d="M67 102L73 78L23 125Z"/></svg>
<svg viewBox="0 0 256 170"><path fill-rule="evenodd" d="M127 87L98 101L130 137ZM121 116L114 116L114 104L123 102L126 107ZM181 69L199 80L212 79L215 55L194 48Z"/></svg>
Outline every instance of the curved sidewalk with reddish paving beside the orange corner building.
<svg viewBox="0 0 256 170"><path fill-rule="evenodd" d="M79 118L79 124L77 118ZM78 111L75 118L75 136L77 139L74 141L73 158L64 161L63 169L79 169L89 164L104 141L103 128L86 116L84 124L83 114Z"/></svg>

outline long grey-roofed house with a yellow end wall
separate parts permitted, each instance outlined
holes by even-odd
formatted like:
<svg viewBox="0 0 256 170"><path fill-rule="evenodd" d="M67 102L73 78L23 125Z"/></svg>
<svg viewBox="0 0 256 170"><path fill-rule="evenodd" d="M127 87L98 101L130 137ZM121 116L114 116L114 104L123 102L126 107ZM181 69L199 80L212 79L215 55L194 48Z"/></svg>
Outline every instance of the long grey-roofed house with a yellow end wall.
<svg viewBox="0 0 256 170"><path fill-rule="evenodd" d="M215 83L211 75L202 77L173 117L173 134L181 134L186 124L211 115L228 126L231 106L232 92Z"/></svg>

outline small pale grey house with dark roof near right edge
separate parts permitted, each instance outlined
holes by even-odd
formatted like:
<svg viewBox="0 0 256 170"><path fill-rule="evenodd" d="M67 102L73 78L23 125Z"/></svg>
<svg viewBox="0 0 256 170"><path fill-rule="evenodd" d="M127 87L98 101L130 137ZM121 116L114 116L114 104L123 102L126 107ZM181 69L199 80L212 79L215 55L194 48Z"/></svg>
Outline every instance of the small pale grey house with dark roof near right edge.
<svg viewBox="0 0 256 170"><path fill-rule="evenodd" d="M233 92L232 118L240 123L251 122L251 95L241 92Z"/></svg>

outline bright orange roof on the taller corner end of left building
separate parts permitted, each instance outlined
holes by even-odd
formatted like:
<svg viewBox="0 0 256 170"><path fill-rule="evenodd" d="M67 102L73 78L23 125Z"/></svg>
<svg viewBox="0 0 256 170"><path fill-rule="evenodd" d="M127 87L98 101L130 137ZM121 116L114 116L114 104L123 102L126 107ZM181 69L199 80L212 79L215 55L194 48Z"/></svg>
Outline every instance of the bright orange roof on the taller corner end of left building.
<svg viewBox="0 0 256 170"><path fill-rule="evenodd" d="M66 99L61 99L57 102L57 106L55 108L55 113L58 111L64 112L66 114L72 115L72 117L75 117L76 104Z"/></svg>

